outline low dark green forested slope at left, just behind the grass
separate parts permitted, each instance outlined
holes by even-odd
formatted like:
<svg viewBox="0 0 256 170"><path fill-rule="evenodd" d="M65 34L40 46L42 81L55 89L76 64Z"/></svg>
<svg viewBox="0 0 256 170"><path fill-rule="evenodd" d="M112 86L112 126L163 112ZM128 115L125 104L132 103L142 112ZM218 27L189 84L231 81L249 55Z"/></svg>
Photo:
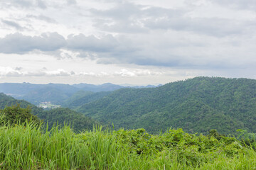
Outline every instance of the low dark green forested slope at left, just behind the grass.
<svg viewBox="0 0 256 170"><path fill-rule="evenodd" d="M16 106L17 104L18 107ZM12 106L14 109L10 107L4 109L6 108L6 106ZM77 132L86 129L92 130L93 125L99 124L95 120L92 120L92 118L87 118L87 116L72 111L69 108L55 108L50 111L43 111L43 108L38 108L33 104L28 103L27 101L17 100L11 96L0 94L0 113L14 112L14 114L11 115L12 117L28 118L31 113L28 113L25 108L31 108L31 113L38 116L38 118L43 119L45 123L48 123L49 129L52 128L52 126L57 122L58 125L70 123L73 126L74 130ZM1 109L4 109L5 112L1 111ZM36 117L33 116L33 119L36 119Z"/></svg>

